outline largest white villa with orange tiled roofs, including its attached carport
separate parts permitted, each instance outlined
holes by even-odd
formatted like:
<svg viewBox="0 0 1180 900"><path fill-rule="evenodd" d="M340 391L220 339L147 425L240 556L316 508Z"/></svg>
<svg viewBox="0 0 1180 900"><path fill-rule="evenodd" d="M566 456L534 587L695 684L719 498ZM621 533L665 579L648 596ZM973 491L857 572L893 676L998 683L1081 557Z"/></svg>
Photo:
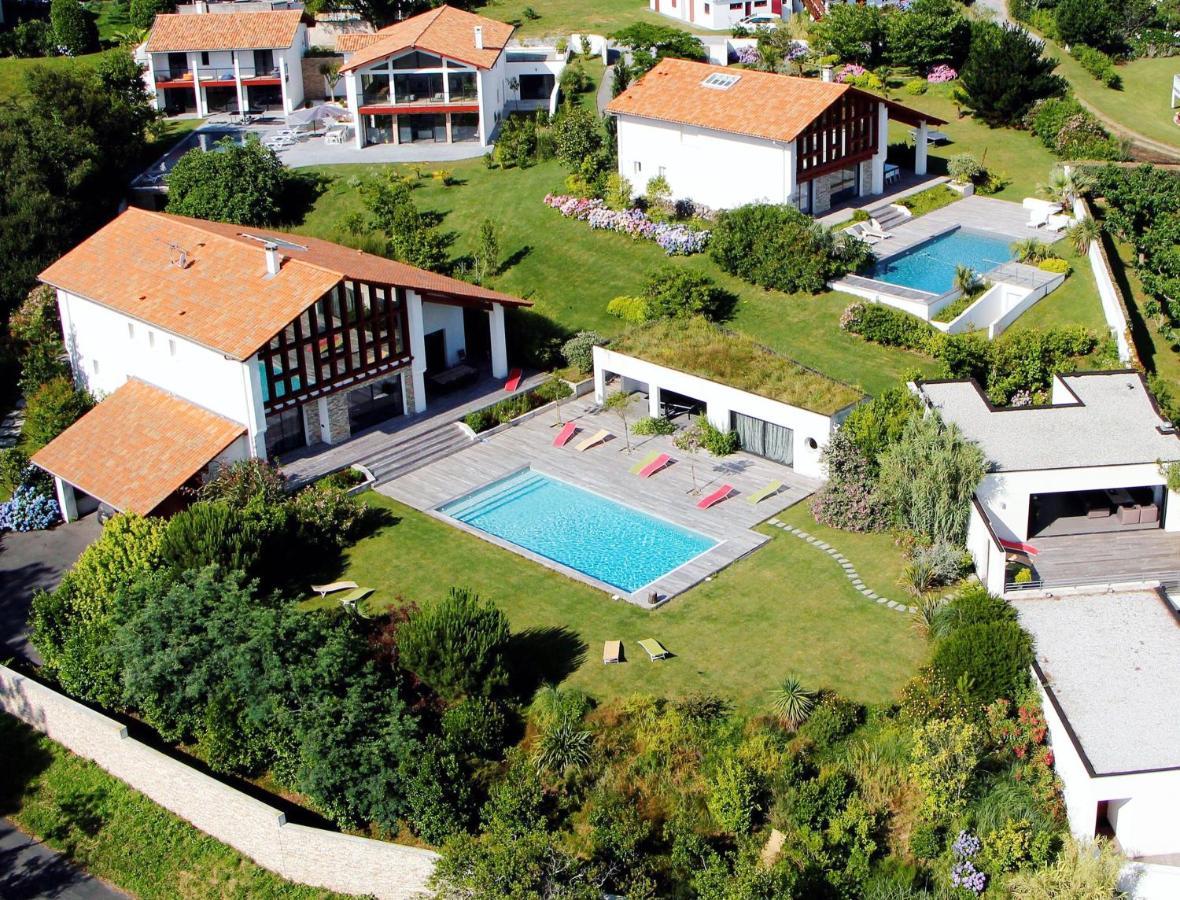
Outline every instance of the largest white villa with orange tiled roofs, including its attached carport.
<svg viewBox="0 0 1180 900"><path fill-rule="evenodd" d="M41 272L74 380L104 398L39 451L79 493L166 512L210 467L275 458L509 374L527 301L316 238L130 208Z"/></svg>

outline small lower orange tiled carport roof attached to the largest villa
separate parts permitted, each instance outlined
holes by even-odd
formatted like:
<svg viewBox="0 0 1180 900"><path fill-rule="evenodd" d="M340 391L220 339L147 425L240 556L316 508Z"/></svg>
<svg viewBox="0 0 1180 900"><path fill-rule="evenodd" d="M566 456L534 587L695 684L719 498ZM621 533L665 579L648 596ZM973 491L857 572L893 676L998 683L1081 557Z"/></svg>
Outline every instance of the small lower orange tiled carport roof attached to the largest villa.
<svg viewBox="0 0 1180 900"><path fill-rule="evenodd" d="M243 434L241 422L131 379L33 462L116 510L146 515Z"/></svg>

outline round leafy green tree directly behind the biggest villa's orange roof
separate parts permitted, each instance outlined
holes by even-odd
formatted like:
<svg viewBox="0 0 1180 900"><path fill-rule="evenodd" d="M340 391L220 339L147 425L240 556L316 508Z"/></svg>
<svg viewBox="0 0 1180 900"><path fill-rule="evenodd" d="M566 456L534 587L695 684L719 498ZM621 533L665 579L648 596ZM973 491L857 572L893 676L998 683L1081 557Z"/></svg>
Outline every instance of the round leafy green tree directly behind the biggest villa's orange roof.
<svg viewBox="0 0 1180 900"><path fill-rule="evenodd" d="M274 224L281 213L289 175L275 151L256 139L228 138L216 153L190 151L168 176L168 211L178 216Z"/></svg>

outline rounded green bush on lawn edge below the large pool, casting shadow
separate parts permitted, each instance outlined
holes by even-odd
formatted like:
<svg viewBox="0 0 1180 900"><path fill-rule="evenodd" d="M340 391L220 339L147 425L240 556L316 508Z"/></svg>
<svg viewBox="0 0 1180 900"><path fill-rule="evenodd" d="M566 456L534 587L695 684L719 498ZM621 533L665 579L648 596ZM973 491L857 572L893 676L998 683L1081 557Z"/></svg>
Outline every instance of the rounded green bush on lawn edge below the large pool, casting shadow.
<svg viewBox="0 0 1180 900"><path fill-rule="evenodd" d="M445 699L494 694L507 677L509 622L493 604L452 587L411 613L398 632L399 661Z"/></svg>

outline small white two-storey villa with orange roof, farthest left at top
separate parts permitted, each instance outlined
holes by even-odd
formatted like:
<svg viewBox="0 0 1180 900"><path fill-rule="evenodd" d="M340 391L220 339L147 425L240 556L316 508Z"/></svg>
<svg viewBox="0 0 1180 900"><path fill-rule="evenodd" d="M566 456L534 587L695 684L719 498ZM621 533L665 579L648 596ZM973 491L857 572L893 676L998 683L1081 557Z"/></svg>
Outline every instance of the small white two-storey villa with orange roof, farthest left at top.
<svg viewBox="0 0 1180 900"><path fill-rule="evenodd" d="M156 17L140 58L156 106L170 116L268 111L303 103L300 9L211 12L209 4Z"/></svg>

